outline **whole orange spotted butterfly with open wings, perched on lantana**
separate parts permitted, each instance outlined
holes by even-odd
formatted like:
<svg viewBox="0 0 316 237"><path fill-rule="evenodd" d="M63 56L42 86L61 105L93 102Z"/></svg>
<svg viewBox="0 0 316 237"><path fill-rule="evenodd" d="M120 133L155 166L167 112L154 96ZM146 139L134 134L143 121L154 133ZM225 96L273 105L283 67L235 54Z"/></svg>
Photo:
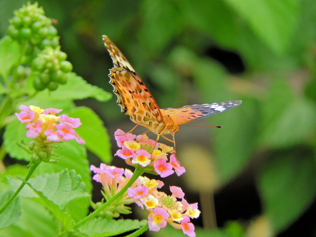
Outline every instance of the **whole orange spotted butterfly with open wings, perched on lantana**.
<svg viewBox="0 0 316 237"><path fill-rule="evenodd" d="M102 38L113 60L113 68L110 69L108 76L110 77L109 83L114 88L113 92L118 97L116 103L121 107L123 113L130 116L131 121L137 125L143 125L149 131L157 134L157 141L159 136L164 137L163 135L171 134L173 141L164 138L174 143L174 134L179 130L179 125L226 111L242 102L234 100L160 109L142 79L118 47L106 35L103 35Z"/></svg>

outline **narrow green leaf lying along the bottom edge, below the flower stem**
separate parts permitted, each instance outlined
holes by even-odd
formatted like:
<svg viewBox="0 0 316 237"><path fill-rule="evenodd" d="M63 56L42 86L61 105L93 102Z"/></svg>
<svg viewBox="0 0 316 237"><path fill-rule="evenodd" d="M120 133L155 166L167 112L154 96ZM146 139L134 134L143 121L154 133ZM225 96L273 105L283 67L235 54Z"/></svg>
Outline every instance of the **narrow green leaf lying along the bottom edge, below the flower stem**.
<svg viewBox="0 0 316 237"><path fill-rule="evenodd" d="M82 233L91 237L106 237L141 228L146 223L147 220L107 220L98 218L84 223L79 229Z"/></svg>

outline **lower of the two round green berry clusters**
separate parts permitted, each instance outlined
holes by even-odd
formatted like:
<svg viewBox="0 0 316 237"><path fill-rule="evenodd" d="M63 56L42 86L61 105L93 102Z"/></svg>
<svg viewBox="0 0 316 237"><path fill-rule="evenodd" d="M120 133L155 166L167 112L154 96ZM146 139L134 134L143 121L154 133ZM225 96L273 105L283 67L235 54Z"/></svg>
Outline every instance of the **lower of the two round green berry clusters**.
<svg viewBox="0 0 316 237"><path fill-rule="evenodd" d="M31 69L34 75L34 88L36 90L56 90L58 84L65 84L72 71L72 64L65 61L67 54L56 49L46 47L32 60Z"/></svg>

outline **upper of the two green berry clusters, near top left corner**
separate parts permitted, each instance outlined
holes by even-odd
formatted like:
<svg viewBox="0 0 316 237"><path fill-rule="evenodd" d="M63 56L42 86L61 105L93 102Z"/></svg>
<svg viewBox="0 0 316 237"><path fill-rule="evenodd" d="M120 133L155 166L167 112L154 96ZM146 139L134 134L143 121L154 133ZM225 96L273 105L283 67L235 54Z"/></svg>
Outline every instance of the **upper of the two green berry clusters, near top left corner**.
<svg viewBox="0 0 316 237"><path fill-rule="evenodd" d="M26 61L32 60L37 53L46 46L56 48L59 45L57 30L52 25L52 20L47 18L38 3L27 3L22 8L14 11L14 17L9 20L7 34L13 39L25 44Z"/></svg>

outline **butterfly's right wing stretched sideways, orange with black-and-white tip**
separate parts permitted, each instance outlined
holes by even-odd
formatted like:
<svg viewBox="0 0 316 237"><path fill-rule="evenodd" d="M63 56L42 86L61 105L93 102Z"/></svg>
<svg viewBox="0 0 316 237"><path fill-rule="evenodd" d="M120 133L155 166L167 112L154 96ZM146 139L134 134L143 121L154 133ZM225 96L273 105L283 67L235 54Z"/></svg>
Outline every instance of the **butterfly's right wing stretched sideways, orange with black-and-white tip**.
<svg viewBox="0 0 316 237"><path fill-rule="evenodd" d="M213 104L187 105L181 108L161 109L161 113L164 116L169 114L175 124L180 125L226 111L240 104L241 100Z"/></svg>

